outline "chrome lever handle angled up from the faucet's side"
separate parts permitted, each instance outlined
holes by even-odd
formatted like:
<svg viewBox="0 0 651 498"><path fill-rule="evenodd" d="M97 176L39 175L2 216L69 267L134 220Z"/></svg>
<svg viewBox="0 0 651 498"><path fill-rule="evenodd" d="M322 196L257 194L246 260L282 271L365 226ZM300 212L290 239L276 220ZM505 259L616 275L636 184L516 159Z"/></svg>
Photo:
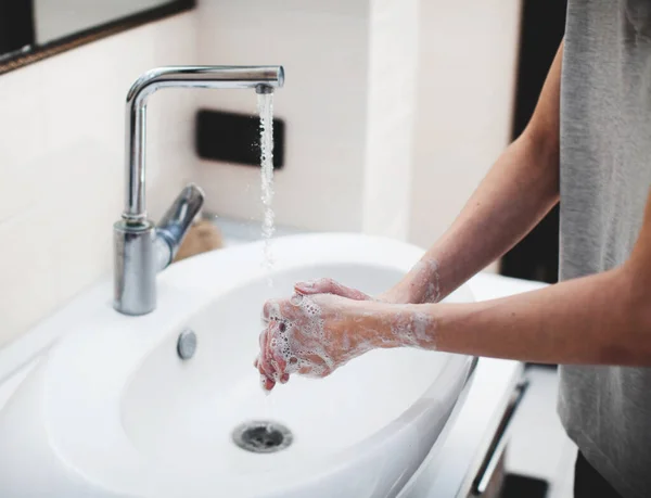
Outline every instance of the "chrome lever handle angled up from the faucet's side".
<svg viewBox="0 0 651 498"><path fill-rule="evenodd" d="M181 190L156 226L158 271L167 267L176 256L186 233L204 203L204 193L194 183Z"/></svg>

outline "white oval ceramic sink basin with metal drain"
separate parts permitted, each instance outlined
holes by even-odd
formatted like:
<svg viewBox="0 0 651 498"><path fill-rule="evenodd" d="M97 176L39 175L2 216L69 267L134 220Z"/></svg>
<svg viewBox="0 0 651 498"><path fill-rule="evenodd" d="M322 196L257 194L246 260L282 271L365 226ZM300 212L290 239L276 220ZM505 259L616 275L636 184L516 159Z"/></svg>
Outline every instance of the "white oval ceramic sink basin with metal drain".
<svg viewBox="0 0 651 498"><path fill-rule="evenodd" d="M292 378L265 396L253 368L265 299L332 277L374 294L422 251L356 234L275 241L273 288L260 243L173 265L143 317L79 309L78 322L0 412L0 496L392 497L432 448L472 359L416 349L371 352L323 380ZM467 288L447 301L472 299ZM86 303L86 304L85 304ZM196 353L177 339L191 329ZM233 430L270 420L292 444L254 454Z"/></svg>

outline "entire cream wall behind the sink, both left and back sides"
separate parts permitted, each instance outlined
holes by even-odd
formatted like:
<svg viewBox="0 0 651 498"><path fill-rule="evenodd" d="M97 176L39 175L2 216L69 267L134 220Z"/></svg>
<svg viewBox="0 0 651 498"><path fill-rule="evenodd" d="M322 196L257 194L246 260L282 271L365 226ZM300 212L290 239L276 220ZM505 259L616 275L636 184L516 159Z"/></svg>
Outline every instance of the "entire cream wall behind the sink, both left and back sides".
<svg viewBox="0 0 651 498"><path fill-rule="evenodd" d="M518 14L515 0L201 0L193 12L2 75L0 346L110 277L124 100L142 72L283 64L278 222L430 245L508 142ZM194 156L197 105L255 113L256 98L152 97L152 217L194 180L208 210L259 219L258 169Z"/></svg>

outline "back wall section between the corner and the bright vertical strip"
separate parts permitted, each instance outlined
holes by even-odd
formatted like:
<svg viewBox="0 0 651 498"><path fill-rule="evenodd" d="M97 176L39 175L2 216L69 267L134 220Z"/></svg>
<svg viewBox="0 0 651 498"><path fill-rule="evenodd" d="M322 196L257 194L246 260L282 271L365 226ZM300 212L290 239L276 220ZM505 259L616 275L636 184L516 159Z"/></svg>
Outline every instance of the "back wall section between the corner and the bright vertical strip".
<svg viewBox="0 0 651 498"><path fill-rule="evenodd" d="M286 166L276 175L277 220L360 230L369 65L367 0L203 0L205 64L282 64L275 112L288 122ZM251 91L206 91L202 105L256 112ZM215 137L219 140L219 137ZM259 219L259 170L202 162L207 209Z"/></svg>

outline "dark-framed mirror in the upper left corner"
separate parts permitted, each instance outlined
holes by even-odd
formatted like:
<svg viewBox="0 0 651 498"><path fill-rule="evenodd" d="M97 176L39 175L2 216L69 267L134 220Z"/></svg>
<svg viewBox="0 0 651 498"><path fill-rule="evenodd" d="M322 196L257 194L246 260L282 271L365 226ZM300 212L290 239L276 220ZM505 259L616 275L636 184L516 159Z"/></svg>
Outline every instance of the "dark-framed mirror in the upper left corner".
<svg viewBox="0 0 651 498"><path fill-rule="evenodd" d="M0 74L194 7L195 0L0 0Z"/></svg>

